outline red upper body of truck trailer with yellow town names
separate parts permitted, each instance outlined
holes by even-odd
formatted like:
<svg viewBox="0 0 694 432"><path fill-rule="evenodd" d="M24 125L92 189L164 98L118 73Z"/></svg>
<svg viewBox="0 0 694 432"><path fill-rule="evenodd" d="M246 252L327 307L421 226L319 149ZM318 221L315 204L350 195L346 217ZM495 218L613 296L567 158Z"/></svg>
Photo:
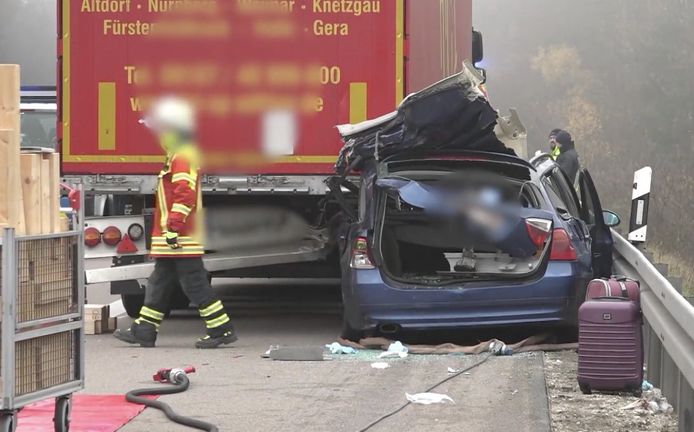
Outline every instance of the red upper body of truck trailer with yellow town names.
<svg viewBox="0 0 694 432"><path fill-rule="evenodd" d="M334 125L391 111L469 57L471 0L168 3L62 1L64 174L156 172L138 120L171 93L198 106L208 172L329 174Z"/></svg>

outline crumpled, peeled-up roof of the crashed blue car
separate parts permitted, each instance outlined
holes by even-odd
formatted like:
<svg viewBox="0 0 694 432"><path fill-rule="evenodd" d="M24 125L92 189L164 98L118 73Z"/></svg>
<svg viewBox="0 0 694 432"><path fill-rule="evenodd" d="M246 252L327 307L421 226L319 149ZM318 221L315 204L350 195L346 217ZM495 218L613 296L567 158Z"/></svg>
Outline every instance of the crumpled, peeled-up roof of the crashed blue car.
<svg viewBox="0 0 694 432"><path fill-rule="evenodd" d="M482 76L463 70L407 96L398 109L358 124L337 126L344 142L335 165L340 175L368 161L417 150L476 150L515 155L494 133L497 111L480 90Z"/></svg>

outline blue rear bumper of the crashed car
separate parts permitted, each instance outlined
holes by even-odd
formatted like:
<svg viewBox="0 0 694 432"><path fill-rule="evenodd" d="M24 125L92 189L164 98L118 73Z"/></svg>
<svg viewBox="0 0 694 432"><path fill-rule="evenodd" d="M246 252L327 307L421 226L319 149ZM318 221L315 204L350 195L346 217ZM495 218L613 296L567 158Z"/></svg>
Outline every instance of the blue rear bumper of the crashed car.
<svg viewBox="0 0 694 432"><path fill-rule="evenodd" d="M454 288L394 287L378 269L349 273L343 279L345 313L350 326L361 330L383 324L426 329L572 323L576 293L581 298L587 282L572 262L551 262L531 282Z"/></svg>

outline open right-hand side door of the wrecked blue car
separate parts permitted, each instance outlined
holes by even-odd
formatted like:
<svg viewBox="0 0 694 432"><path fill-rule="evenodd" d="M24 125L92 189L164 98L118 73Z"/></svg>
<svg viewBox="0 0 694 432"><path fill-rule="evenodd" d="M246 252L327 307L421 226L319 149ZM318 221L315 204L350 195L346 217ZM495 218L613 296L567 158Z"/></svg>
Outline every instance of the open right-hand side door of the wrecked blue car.
<svg viewBox="0 0 694 432"><path fill-rule="evenodd" d="M595 277L609 277L612 274L612 232L602 216L602 205L597 189L588 170L581 169L578 174L581 194L581 219L590 231L593 274Z"/></svg>

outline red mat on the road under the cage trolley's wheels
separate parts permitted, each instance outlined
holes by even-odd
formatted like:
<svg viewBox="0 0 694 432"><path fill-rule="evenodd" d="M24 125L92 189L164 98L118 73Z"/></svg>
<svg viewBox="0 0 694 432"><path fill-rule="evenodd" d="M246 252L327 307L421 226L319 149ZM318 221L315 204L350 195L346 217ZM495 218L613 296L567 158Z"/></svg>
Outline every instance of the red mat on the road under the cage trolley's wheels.
<svg viewBox="0 0 694 432"><path fill-rule="evenodd" d="M19 412L17 432L52 431L54 409L54 399L27 405ZM70 432L114 432L144 409L126 401L124 395L75 394Z"/></svg>

